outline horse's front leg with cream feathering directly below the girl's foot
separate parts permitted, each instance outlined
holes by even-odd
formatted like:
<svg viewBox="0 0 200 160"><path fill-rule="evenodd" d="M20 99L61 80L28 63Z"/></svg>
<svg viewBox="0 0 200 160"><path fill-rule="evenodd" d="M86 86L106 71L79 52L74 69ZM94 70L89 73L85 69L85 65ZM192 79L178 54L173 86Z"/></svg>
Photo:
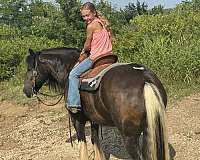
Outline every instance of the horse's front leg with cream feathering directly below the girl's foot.
<svg viewBox="0 0 200 160"><path fill-rule="evenodd" d="M88 150L87 150L87 143L86 143L86 136L85 136L85 124L86 120L81 115L81 113L72 114L72 123L76 130L76 134L78 137L78 147L79 147L79 155L80 160L88 160Z"/></svg>

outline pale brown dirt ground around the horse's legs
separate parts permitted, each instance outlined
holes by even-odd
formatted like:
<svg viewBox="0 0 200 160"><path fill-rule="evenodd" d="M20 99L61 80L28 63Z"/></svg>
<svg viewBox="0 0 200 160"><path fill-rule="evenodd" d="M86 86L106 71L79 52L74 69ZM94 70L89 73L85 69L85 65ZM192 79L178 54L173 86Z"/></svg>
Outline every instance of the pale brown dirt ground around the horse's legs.
<svg viewBox="0 0 200 160"><path fill-rule="evenodd" d="M200 94L185 97L168 105L167 123L171 155L174 160L200 160ZM107 128L108 129L108 128ZM125 159L127 155L119 135L112 134L111 159ZM90 159L90 127L87 125ZM118 142L118 144L115 144ZM0 160L76 160L77 139L73 130L73 144L69 139L68 116L62 104L16 105L0 102ZM107 148L109 148L107 146Z"/></svg>

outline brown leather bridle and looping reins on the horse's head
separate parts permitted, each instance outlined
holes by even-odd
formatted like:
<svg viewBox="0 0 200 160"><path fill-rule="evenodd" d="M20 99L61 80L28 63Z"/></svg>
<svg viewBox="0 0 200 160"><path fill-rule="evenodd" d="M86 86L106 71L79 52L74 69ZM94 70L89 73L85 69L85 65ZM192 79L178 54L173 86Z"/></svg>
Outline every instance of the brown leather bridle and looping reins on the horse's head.
<svg viewBox="0 0 200 160"><path fill-rule="evenodd" d="M32 69L32 91L33 91L33 95L37 98L38 102L41 102L42 104L46 105L46 106L55 106L56 104L58 104L61 99L63 98L64 96L64 93L59 93L57 95L48 95L48 94L45 94L45 93L41 93L41 92L37 92L36 91L36 79L37 79L37 76L38 76L38 62L36 60L36 56L34 57L34 68ZM53 104L47 104L45 103L44 101L42 101L42 99L37 95L37 94L41 94L43 96L48 96L48 97L57 97L59 95L61 95L61 97L58 99L58 101L56 103L53 103Z"/></svg>

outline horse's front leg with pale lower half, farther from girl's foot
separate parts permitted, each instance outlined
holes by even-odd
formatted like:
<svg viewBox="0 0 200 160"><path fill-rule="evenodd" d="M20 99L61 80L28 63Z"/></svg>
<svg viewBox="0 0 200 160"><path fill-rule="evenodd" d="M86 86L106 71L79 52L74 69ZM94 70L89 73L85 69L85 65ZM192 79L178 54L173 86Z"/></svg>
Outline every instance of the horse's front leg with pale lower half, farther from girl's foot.
<svg viewBox="0 0 200 160"><path fill-rule="evenodd" d="M94 147L94 159L106 160L104 152L99 143L99 125L91 123L91 140Z"/></svg>

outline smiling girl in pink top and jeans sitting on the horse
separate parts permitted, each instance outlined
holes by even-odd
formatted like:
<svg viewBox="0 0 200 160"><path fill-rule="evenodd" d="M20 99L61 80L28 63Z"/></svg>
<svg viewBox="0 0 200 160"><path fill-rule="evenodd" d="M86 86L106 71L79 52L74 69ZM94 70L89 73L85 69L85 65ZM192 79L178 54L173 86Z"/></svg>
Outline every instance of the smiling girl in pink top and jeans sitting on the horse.
<svg viewBox="0 0 200 160"><path fill-rule="evenodd" d="M79 77L92 67L95 59L104 54L112 54L111 32L108 20L101 16L93 3L86 2L81 7L81 15L86 22L86 40L80 53L79 63L69 74L69 88L66 107L72 113L81 110ZM86 53L90 53L89 57Z"/></svg>

